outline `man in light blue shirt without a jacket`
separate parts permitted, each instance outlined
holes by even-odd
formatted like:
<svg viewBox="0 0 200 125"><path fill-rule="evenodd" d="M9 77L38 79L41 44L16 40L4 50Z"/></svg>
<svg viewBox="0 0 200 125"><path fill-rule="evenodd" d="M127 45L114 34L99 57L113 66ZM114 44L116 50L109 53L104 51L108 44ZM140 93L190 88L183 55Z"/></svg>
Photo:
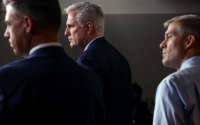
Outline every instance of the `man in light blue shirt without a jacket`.
<svg viewBox="0 0 200 125"><path fill-rule="evenodd" d="M200 125L200 16L164 23L162 63L177 69L157 88L153 125Z"/></svg>

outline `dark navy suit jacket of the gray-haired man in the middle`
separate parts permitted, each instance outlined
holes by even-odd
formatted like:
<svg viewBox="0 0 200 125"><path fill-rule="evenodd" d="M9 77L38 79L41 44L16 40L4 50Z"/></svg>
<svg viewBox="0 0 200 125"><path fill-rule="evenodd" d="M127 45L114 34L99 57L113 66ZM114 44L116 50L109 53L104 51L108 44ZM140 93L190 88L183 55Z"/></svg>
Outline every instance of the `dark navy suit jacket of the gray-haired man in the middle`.
<svg viewBox="0 0 200 125"><path fill-rule="evenodd" d="M131 70L127 60L104 37L96 39L77 62L103 81L108 125L131 122Z"/></svg>

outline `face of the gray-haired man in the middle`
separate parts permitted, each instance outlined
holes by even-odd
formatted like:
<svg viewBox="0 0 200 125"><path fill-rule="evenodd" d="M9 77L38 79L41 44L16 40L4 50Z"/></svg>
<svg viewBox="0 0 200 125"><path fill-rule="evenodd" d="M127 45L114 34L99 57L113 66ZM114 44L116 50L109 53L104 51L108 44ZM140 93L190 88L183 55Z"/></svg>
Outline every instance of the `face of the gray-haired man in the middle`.
<svg viewBox="0 0 200 125"><path fill-rule="evenodd" d="M68 37L71 48L78 47L84 49L84 43L87 38L87 29L78 23L76 15L76 11L72 11L68 14L65 36Z"/></svg>

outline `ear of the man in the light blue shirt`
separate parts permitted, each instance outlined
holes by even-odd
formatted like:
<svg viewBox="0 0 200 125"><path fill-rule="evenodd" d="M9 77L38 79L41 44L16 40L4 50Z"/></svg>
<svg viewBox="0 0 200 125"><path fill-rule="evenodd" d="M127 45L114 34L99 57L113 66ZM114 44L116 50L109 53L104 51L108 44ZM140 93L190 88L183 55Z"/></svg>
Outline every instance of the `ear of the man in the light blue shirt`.
<svg viewBox="0 0 200 125"><path fill-rule="evenodd" d="M194 35L188 35L186 37L185 49L190 49L196 44L196 37Z"/></svg>

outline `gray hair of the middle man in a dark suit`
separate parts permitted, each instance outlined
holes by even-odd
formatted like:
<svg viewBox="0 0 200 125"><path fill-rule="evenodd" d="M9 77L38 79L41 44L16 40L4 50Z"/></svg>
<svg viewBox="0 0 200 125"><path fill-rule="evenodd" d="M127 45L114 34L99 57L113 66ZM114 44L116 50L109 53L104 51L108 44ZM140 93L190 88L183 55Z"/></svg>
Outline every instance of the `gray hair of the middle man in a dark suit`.
<svg viewBox="0 0 200 125"><path fill-rule="evenodd" d="M104 14L100 6L90 2L77 2L65 8L66 14L72 11L78 12L76 19L81 26L91 21L98 33L104 33Z"/></svg>

